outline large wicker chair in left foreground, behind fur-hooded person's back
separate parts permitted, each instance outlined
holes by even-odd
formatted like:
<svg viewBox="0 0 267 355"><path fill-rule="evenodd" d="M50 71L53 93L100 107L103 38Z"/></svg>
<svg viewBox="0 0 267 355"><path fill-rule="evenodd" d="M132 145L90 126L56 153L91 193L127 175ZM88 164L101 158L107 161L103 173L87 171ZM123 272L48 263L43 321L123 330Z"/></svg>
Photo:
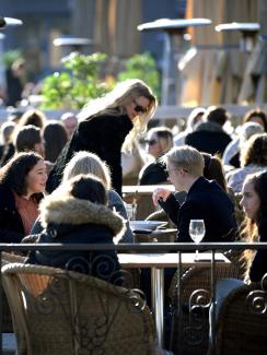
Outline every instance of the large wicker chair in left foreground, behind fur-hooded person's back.
<svg viewBox="0 0 267 355"><path fill-rule="evenodd" d="M2 275L25 336L19 355L155 354L152 318L137 291L31 264L4 265Z"/></svg>

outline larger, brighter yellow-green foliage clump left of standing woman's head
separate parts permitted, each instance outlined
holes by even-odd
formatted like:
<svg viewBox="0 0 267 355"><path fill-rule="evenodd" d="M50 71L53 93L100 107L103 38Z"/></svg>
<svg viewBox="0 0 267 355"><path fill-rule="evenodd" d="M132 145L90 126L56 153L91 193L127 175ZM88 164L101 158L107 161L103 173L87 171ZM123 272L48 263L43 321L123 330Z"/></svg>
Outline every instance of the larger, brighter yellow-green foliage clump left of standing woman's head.
<svg viewBox="0 0 267 355"><path fill-rule="evenodd" d="M65 70L46 76L42 90L43 108L80 109L90 99L102 96L111 90L100 78L104 54L91 56L72 52L62 60Z"/></svg>

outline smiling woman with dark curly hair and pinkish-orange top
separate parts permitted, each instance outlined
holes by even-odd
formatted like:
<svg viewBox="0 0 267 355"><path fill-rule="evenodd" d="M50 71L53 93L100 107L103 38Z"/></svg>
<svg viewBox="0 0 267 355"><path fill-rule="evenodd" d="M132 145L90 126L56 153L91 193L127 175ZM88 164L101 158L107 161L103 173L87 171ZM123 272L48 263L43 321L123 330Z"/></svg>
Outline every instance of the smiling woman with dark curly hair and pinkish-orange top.
<svg viewBox="0 0 267 355"><path fill-rule="evenodd" d="M47 181L36 153L18 153L0 169L0 241L20 242L37 218Z"/></svg>

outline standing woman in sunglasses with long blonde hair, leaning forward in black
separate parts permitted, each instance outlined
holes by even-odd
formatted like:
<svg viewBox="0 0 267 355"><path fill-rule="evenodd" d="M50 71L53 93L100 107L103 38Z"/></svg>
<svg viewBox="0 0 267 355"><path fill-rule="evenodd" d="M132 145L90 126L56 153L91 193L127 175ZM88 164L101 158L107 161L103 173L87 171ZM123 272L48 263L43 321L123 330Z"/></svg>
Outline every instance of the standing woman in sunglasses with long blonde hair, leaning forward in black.
<svg viewBox="0 0 267 355"><path fill-rule="evenodd" d="M155 96L140 80L126 80L111 93L90 102L78 115L78 128L49 175L47 191L51 192L60 184L62 170L73 153L86 151L106 162L112 171L112 185L121 194L121 150L131 149L134 139L146 130L155 107Z"/></svg>

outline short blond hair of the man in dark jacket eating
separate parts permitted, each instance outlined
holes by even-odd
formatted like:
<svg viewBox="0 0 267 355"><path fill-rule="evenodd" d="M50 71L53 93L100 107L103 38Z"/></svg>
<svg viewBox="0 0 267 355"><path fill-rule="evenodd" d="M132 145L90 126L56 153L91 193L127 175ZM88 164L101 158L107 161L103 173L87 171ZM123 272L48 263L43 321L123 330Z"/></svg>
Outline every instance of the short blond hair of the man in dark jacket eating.
<svg viewBox="0 0 267 355"><path fill-rule="evenodd" d="M166 159L174 166L184 168L195 177L204 175L204 157L193 146L174 146L173 149L171 149L171 151L165 154L164 161L166 162Z"/></svg>

